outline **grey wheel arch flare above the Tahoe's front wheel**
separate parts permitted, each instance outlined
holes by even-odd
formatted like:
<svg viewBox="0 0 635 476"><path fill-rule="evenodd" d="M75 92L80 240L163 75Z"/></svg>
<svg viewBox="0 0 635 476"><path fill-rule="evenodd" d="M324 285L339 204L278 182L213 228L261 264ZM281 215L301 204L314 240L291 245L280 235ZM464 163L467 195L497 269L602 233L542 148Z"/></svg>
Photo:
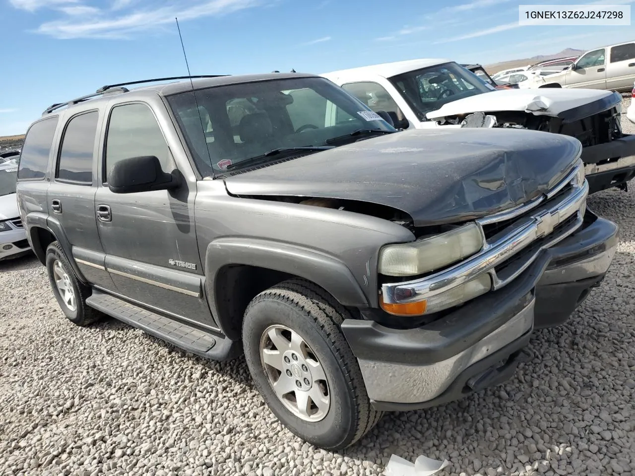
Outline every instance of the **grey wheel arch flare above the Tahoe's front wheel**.
<svg viewBox="0 0 635 476"><path fill-rule="evenodd" d="M232 340L240 338L244 310L250 301L287 279L310 281L346 307L368 307L368 298L342 261L286 243L245 238L211 242L205 274L213 317Z"/></svg>

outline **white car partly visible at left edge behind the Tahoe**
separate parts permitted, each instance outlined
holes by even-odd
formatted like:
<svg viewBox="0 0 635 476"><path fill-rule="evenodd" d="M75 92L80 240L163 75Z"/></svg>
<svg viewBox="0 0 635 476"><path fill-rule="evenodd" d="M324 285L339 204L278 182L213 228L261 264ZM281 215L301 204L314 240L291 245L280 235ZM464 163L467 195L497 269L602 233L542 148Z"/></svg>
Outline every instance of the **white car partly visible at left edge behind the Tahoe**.
<svg viewBox="0 0 635 476"><path fill-rule="evenodd" d="M30 249L15 195L17 178L17 164L0 164L0 260L24 255Z"/></svg>

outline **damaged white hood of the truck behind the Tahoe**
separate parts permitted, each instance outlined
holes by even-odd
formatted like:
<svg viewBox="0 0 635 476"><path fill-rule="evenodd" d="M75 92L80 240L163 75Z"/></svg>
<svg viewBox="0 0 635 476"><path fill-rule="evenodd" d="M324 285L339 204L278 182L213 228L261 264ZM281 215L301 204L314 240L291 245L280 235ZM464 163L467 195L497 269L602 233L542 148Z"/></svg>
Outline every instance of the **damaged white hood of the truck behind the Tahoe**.
<svg viewBox="0 0 635 476"><path fill-rule="evenodd" d="M472 112L525 111L536 116L559 117L577 121L598 114L622 102L613 91L598 89L499 89L449 102L428 112L428 119L471 114Z"/></svg>

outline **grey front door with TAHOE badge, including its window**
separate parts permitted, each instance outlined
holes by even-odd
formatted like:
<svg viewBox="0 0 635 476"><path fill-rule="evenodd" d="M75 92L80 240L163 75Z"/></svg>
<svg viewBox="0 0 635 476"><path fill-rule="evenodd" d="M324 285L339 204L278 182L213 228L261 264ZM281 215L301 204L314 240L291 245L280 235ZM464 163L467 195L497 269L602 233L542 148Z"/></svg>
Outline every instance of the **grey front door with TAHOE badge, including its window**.
<svg viewBox="0 0 635 476"><path fill-rule="evenodd" d="M107 185L113 164L129 157L154 155L164 171L178 168L150 106L135 102L112 107L104 150L95 209L106 268L119 293L213 325L194 231L196 181L184 179L175 190L131 194L114 194Z"/></svg>

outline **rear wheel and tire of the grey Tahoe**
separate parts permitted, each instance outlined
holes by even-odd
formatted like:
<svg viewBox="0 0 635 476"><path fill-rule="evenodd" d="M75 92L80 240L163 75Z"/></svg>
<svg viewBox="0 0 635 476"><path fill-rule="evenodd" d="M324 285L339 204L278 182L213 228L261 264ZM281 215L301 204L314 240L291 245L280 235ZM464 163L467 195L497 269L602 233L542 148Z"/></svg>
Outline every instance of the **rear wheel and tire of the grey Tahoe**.
<svg viewBox="0 0 635 476"><path fill-rule="evenodd" d="M57 241L53 241L46 248L46 270L55 299L70 322L86 327L102 317L100 312L86 305L86 298L90 296L91 288L77 279L62 246ZM62 281L62 287L57 281ZM65 289L71 289L72 293Z"/></svg>

